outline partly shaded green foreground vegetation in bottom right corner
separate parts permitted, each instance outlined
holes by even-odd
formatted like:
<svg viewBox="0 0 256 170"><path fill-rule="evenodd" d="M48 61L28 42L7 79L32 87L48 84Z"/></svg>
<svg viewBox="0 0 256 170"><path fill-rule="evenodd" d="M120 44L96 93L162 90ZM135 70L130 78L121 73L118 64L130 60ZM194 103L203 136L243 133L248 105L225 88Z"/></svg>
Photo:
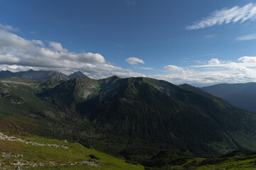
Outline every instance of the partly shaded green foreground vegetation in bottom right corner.
<svg viewBox="0 0 256 170"><path fill-rule="evenodd" d="M256 152L235 151L221 157L182 157L160 152L149 160L148 170L156 169L256 169ZM154 168L153 168L154 167Z"/></svg>

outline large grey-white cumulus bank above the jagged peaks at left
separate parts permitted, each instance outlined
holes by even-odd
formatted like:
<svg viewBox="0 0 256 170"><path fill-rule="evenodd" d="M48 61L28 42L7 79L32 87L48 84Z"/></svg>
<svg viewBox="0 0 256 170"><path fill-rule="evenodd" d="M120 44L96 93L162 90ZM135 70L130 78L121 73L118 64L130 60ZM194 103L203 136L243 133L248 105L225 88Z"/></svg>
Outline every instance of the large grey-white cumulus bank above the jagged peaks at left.
<svg viewBox="0 0 256 170"><path fill-rule="evenodd" d="M26 40L7 30L0 30L0 69L11 71L55 70L70 74L79 69L88 76L100 79L109 75L144 77L144 74L114 66L105 57L92 52L69 52L59 42Z"/></svg>

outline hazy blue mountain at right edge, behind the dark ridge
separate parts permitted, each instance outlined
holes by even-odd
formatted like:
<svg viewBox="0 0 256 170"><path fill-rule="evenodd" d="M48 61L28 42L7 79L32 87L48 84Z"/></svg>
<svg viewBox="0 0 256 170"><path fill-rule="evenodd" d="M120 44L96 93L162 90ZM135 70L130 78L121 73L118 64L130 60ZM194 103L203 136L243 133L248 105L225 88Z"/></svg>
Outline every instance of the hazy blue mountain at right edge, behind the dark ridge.
<svg viewBox="0 0 256 170"><path fill-rule="evenodd" d="M238 108L256 113L256 83L216 84L201 88L209 94L218 96Z"/></svg>

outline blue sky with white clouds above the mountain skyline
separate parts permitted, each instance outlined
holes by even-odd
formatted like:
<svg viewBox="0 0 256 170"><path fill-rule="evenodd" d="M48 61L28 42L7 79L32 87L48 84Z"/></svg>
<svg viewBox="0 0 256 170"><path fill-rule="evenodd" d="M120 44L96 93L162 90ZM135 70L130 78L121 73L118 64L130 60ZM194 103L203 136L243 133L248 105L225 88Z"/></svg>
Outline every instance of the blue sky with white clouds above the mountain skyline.
<svg viewBox="0 0 256 170"><path fill-rule="evenodd" d="M256 1L0 0L0 70L256 81Z"/></svg>

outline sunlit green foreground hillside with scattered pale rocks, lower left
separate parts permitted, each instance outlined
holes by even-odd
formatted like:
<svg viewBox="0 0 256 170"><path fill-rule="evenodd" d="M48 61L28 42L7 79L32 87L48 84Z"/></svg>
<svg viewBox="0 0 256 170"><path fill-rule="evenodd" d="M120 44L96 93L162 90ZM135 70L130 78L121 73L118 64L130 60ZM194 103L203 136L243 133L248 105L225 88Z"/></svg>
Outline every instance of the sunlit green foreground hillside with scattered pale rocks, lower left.
<svg viewBox="0 0 256 170"><path fill-rule="evenodd" d="M66 148L0 140L0 169L15 169L16 166L20 166L21 169L144 169L143 166L127 164L122 159L82 147L78 143L47 140L41 137L18 138L26 142L54 144Z"/></svg>

